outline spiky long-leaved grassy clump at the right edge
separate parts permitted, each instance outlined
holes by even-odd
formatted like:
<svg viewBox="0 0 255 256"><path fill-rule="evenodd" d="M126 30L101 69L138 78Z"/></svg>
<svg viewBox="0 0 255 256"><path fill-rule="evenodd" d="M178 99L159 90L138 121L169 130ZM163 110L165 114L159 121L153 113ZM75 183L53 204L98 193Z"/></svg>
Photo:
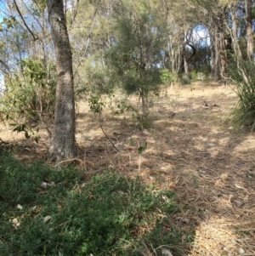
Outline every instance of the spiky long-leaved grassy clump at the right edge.
<svg viewBox="0 0 255 256"><path fill-rule="evenodd" d="M240 68L235 65L229 66L229 75L237 83L234 88L238 100L230 112L229 121L235 128L250 124L250 128L255 128L255 76L254 63L240 60Z"/></svg>

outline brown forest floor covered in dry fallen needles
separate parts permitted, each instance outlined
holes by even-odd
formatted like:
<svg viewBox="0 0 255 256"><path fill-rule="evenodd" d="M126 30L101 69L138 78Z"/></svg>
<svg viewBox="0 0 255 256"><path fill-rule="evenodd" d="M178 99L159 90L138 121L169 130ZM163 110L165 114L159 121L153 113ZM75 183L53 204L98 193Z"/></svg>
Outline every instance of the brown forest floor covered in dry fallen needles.
<svg viewBox="0 0 255 256"><path fill-rule="evenodd" d="M100 122L86 102L77 105L77 163L84 182L106 168L140 175L148 185L175 192L179 212L173 224L195 229L186 255L255 255L254 134L225 122L236 100L233 90L206 82L167 89L150 99L149 128L143 131L130 112L113 115L122 97L105 107ZM37 145L5 125L0 138L21 146L21 159L31 159L46 154L48 139L40 134Z"/></svg>

